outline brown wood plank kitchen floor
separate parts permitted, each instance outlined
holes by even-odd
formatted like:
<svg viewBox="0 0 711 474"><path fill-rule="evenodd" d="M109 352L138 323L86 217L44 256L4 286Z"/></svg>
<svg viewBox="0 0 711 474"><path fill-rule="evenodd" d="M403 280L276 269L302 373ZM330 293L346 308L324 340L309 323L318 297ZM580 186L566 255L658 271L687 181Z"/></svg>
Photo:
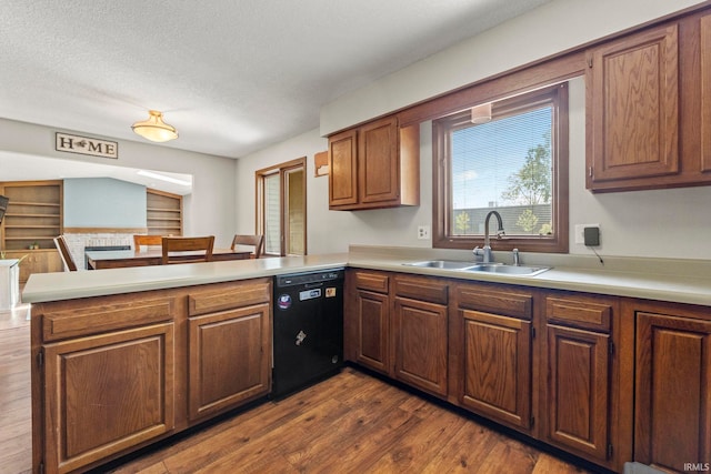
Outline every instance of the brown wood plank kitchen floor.
<svg viewBox="0 0 711 474"><path fill-rule="evenodd" d="M17 313L17 314L16 314ZM0 472L28 473L29 325L0 313ZM106 470L103 470L106 471ZM583 473L405 391L346 369L112 473Z"/></svg>

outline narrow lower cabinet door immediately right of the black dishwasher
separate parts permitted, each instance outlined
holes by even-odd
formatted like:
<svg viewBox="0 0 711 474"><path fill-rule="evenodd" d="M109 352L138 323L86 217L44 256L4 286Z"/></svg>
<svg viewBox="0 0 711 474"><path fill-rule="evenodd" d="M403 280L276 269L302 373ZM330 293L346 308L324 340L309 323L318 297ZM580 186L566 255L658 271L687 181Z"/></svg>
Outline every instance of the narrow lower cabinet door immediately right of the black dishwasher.
<svg viewBox="0 0 711 474"><path fill-rule="evenodd" d="M356 294L358 347L356 362L390 373L390 311L387 294L358 290Z"/></svg>

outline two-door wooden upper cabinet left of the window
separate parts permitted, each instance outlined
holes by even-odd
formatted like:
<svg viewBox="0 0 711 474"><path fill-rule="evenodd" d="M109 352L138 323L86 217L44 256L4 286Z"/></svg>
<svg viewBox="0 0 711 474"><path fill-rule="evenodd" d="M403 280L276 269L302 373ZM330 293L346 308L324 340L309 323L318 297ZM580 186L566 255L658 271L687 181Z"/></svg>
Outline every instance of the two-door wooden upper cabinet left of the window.
<svg viewBox="0 0 711 474"><path fill-rule="evenodd" d="M395 117L329 137L329 209L420 204L419 125Z"/></svg>

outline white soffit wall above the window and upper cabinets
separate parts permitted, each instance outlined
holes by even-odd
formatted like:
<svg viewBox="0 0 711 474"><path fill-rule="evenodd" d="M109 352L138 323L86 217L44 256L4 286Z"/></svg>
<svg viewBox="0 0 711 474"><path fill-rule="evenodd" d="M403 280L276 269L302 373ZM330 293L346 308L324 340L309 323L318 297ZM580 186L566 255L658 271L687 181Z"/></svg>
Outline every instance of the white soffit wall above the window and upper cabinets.
<svg viewBox="0 0 711 474"><path fill-rule="evenodd" d="M326 104L321 109L321 134L329 135L697 3L702 1L551 1Z"/></svg>

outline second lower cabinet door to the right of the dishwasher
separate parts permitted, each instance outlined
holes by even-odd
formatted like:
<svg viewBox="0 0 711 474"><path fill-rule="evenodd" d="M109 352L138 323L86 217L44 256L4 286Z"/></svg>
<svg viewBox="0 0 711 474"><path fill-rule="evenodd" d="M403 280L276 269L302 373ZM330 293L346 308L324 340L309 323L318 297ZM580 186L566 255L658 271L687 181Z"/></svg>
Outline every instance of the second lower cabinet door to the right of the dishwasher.
<svg viewBox="0 0 711 474"><path fill-rule="evenodd" d="M395 376L447 396L447 306L395 297Z"/></svg>

